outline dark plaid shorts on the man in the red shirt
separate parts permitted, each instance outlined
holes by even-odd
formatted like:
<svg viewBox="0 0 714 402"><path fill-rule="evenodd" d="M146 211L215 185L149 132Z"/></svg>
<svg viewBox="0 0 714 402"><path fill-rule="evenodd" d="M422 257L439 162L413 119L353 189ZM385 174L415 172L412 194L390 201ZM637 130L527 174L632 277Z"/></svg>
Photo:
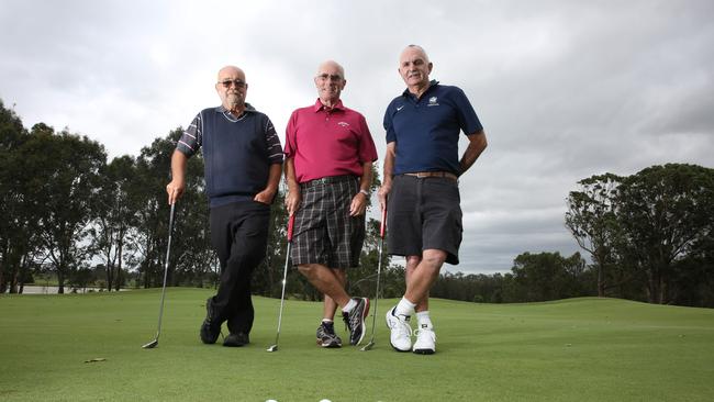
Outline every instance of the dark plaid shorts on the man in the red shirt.
<svg viewBox="0 0 714 402"><path fill-rule="evenodd" d="M301 183L300 191L302 203L295 212L292 264L357 267L365 242L365 215L349 216L349 204L359 191L359 179L326 177Z"/></svg>

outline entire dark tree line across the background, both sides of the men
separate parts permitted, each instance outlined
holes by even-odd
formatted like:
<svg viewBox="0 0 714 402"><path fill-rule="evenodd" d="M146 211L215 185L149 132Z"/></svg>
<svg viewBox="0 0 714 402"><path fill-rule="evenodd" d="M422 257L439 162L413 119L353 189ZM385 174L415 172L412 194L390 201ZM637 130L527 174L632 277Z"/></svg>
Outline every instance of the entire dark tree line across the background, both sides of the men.
<svg viewBox="0 0 714 402"><path fill-rule="evenodd" d="M104 147L44 123L24 129L0 100L0 293L22 292L49 272L59 292L99 281L107 290L159 287L168 239L165 186L181 129L155 138L134 157L108 160ZM380 186L375 171L372 189ZM203 160L189 159L177 203L169 286L214 286ZM524 253L511 272L443 272L431 294L471 302L529 302L581 295L714 306L714 170L682 164L635 175L580 180L566 200L565 225L591 259L576 253ZM286 188L272 204L267 256L254 277L255 294L279 297L286 261ZM389 236L389 230L387 232ZM373 293L379 222L368 219L360 267L349 293ZM382 255L382 297L401 297L404 269ZM293 298L321 295L295 270Z"/></svg>

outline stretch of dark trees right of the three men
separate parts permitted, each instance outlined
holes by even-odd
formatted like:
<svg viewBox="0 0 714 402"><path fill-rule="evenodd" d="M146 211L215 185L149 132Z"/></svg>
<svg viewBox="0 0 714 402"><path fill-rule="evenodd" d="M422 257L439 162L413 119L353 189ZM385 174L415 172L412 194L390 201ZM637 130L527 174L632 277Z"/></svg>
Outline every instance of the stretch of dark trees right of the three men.
<svg viewBox="0 0 714 402"><path fill-rule="evenodd" d="M434 297L531 302L581 295L714 308L714 169L651 166L595 175L566 200L576 253L524 253L509 273L443 273Z"/></svg>

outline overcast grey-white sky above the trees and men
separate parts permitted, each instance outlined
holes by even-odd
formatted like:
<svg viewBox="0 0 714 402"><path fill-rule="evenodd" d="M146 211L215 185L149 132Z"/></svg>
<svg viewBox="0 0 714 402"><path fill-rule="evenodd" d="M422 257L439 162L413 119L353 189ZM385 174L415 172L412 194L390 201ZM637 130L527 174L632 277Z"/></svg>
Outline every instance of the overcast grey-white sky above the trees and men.
<svg viewBox="0 0 714 402"><path fill-rule="evenodd" d="M398 57L420 44L489 139L460 181L461 264L446 267L505 272L524 252L578 250L564 225L578 180L714 167L712 21L711 0L2 0L0 99L26 127L136 156L220 104L216 72L237 65L282 139L290 112L316 99L319 63L335 59L381 161Z"/></svg>

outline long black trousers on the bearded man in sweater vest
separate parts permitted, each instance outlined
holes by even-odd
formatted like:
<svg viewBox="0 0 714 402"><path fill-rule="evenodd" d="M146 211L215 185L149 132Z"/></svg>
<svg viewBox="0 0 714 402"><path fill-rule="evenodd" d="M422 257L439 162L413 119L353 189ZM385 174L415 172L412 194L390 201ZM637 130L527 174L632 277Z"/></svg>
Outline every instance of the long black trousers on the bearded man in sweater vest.
<svg viewBox="0 0 714 402"><path fill-rule="evenodd" d="M212 299L217 322L231 333L253 328L250 279L266 255L270 206L241 201L211 209L211 243L221 261L221 284Z"/></svg>

